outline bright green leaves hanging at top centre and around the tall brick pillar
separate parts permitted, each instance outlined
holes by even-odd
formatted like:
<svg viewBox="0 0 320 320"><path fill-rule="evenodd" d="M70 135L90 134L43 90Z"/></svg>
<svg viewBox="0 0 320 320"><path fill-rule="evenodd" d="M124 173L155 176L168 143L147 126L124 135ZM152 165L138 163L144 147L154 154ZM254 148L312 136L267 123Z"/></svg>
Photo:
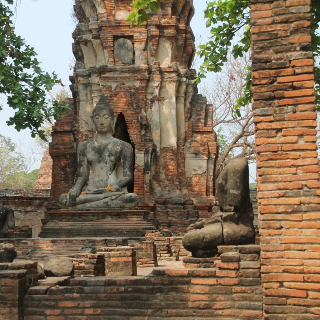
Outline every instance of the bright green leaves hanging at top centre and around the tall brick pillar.
<svg viewBox="0 0 320 320"><path fill-rule="evenodd" d="M150 19L146 11L155 12L159 8L156 2L159 0L132 1L133 10L127 20L134 26ZM234 58L242 57L244 52L250 49L250 1L249 0L215 0L207 3L204 10L206 27L210 28L211 37L205 44L199 46L197 54L204 57L204 62L195 79L200 83L205 78L207 71L220 72L221 67L228 61L228 53L231 51ZM311 41L314 58L320 55L320 1L311 0ZM243 30L240 40L234 44L236 34ZM244 96L240 97L235 105L235 110L240 115L239 108L251 102L252 84L251 68L248 67L244 84ZM315 65L315 89L316 108L320 110L320 68Z"/></svg>

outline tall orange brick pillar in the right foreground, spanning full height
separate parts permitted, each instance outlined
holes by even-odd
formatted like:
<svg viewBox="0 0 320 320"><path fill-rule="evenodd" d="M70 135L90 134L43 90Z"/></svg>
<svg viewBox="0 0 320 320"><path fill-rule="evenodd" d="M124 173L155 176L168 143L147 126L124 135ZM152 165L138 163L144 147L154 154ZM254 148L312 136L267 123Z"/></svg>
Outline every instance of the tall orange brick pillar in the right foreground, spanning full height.
<svg viewBox="0 0 320 320"><path fill-rule="evenodd" d="M310 0L252 0L251 10L264 319L318 319L320 184Z"/></svg>

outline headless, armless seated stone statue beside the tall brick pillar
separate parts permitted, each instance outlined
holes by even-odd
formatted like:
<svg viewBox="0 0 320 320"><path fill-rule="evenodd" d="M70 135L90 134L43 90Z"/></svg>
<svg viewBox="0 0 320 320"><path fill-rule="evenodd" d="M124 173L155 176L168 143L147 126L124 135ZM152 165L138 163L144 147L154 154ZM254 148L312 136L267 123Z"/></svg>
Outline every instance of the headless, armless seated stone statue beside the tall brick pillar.
<svg viewBox="0 0 320 320"><path fill-rule="evenodd" d="M220 173L216 189L219 209L210 218L191 224L182 239L193 257L213 257L218 245L254 243L248 161L231 159Z"/></svg>

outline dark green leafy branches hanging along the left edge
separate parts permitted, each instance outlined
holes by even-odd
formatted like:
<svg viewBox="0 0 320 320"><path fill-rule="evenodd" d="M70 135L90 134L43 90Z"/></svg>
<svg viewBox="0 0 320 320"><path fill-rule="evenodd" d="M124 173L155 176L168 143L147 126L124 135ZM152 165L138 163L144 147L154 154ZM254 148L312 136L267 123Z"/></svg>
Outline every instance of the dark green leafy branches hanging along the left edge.
<svg viewBox="0 0 320 320"><path fill-rule="evenodd" d="M16 110L7 121L17 131L29 128L46 140L41 125L52 118L57 120L68 110L67 104L46 101L46 92L61 80L55 73L49 75L40 68L33 47L15 34L10 5L13 0L0 0L0 93L7 96L7 104ZM3 105L0 101L0 111Z"/></svg>

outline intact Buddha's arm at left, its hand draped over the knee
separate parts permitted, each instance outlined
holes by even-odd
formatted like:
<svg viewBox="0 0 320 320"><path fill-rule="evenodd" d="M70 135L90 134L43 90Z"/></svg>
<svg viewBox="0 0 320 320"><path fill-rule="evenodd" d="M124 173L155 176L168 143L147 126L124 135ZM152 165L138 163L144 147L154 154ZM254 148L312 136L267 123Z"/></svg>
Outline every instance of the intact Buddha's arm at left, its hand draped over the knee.
<svg viewBox="0 0 320 320"><path fill-rule="evenodd" d="M80 195L82 188L87 182L88 160L85 154L86 142L80 142L77 150L77 180L75 185L70 189L69 202L76 203L76 198Z"/></svg>

